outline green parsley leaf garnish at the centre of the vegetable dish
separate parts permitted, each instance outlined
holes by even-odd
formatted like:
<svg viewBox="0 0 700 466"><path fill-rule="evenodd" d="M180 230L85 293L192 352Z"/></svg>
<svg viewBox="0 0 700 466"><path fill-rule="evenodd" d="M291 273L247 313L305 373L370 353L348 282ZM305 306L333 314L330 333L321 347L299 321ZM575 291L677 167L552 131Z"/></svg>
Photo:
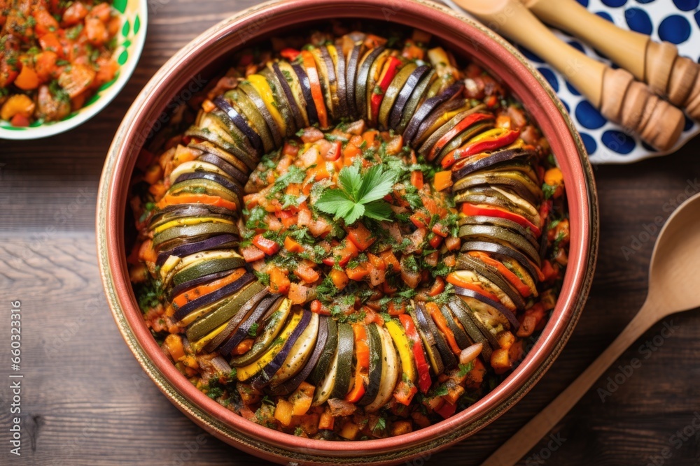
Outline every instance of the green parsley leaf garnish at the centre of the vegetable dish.
<svg viewBox="0 0 700 466"><path fill-rule="evenodd" d="M346 225L363 216L388 220L391 207L381 198L391 191L394 181L395 174L381 165L372 166L364 174L360 174L357 166L345 167L338 174L338 187L323 191L316 208L335 215L335 219L344 219Z"/></svg>

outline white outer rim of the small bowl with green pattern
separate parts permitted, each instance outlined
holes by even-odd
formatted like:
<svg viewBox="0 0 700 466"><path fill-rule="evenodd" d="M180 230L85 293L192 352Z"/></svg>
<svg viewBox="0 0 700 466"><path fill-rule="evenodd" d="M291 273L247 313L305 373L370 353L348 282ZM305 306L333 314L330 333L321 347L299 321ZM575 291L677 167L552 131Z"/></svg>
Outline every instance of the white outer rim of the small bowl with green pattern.
<svg viewBox="0 0 700 466"><path fill-rule="evenodd" d="M81 107L77 110L76 115L70 117L69 119L64 119L59 122L50 122L48 124L41 124L40 126L31 126L29 128L20 129L6 129L0 128L0 139L5 140L34 140L41 138L48 138L49 136L55 136L60 133L65 133L71 129L77 128L81 124L87 122L99 112L102 112L104 108L113 101L116 96L122 91L127 82L129 82L132 74L137 68L137 64L141 59L141 53L144 51L144 45L146 44L146 29L148 29L148 0L128 0L137 1L138 8L137 12L139 15L139 22L141 24L141 29L134 36L132 44L135 46L133 49L133 54L130 54L129 59L123 65L119 67L119 75L109 89L104 89L99 98L87 105L86 107ZM125 17L125 13L120 13L121 16ZM124 22L122 22L122 25ZM121 30L121 28L120 28ZM125 38L125 41L128 40ZM123 43L124 41L122 41ZM115 53L118 52L120 48L115 49Z"/></svg>

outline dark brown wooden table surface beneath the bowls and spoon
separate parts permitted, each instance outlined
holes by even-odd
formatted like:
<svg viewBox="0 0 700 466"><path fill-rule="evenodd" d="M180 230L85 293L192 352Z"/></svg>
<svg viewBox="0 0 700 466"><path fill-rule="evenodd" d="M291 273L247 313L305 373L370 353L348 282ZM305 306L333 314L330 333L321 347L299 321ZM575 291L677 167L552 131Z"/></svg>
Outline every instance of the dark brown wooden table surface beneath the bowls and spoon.
<svg viewBox="0 0 700 466"><path fill-rule="evenodd" d="M193 8L186 0L150 1L144 54L116 101L69 133L0 141L0 377L10 373L14 300L22 303L25 376L20 457L9 453L12 394L7 382L1 384L0 464L262 464L204 434L142 372L106 306L94 245L104 154L130 102L176 50L253 3L210 0ZM664 158L596 168L600 255L573 337L524 400L426 464L479 464L624 328L646 293L654 221L700 191L699 150L696 140ZM700 314L677 314L666 323L670 336L661 337L661 323L649 330L563 419L553 441L542 440L523 464L699 464L700 431L693 421L700 419ZM641 367L621 372L635 357ZM622 384L608 386L616 375ZM609 392L604 400L598 388Z"/></svg>

